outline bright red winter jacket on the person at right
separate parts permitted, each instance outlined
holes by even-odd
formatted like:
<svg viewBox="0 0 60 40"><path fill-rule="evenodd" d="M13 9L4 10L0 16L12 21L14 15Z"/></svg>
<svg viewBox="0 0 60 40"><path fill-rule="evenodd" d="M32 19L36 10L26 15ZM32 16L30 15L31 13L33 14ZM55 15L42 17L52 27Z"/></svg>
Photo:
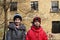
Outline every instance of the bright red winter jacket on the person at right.
<svg viewBox="0 0 60 40"><path fill-rule="evenodd" d="M26 40L48 40L48 38L41 27L35 28L35 26L32 26L31 29L27 32Z"/></svg>

